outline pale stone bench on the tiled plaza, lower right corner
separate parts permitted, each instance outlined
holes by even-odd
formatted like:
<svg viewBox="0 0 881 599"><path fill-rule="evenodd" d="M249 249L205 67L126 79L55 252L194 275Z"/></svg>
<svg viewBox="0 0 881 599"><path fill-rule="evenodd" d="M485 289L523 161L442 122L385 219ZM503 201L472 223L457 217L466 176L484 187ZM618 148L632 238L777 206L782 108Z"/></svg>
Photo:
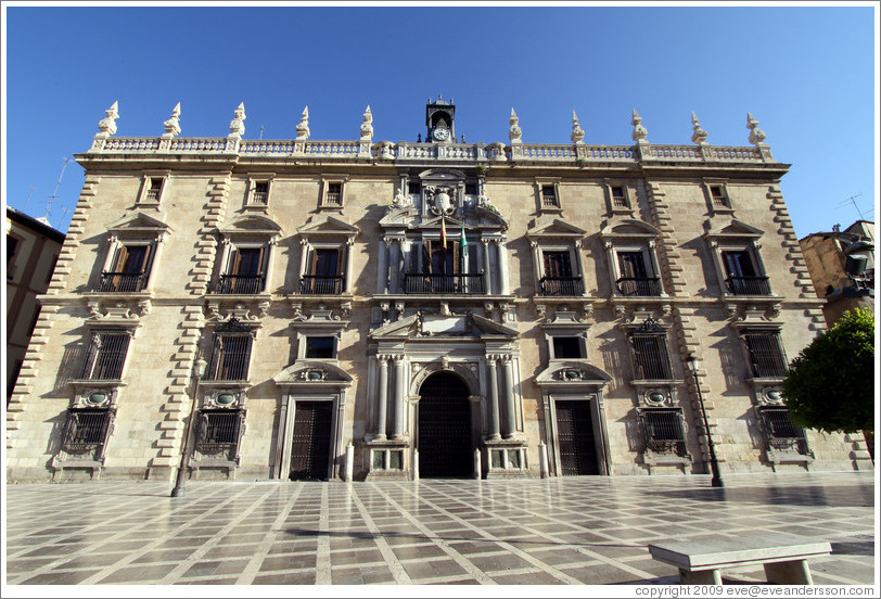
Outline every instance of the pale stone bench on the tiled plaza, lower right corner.
<svg viewBox="0 0 881 599"><path fill-rule="evenodd" d="M810 585L809 558L828 556L832 546L796 535L756 533L755 536L705 536L649 545L657 561L679 569L684 585L720 585L722 569L765 566L769 583Z"/></svg>

